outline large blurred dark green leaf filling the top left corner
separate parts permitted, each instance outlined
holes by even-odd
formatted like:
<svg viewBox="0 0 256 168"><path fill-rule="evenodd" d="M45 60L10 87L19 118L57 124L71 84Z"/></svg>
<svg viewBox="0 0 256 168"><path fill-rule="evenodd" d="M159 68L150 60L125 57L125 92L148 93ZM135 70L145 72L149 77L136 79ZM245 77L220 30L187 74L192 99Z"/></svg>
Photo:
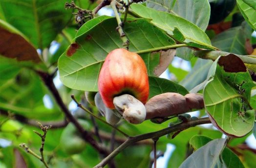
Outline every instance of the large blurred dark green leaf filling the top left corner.
<svg viewBox="0 0 256 168"><path fill-rule="evenodd" d="M1 0L0 19L19 29L36 48L55 39L72 17L66 0Z"/></svg>

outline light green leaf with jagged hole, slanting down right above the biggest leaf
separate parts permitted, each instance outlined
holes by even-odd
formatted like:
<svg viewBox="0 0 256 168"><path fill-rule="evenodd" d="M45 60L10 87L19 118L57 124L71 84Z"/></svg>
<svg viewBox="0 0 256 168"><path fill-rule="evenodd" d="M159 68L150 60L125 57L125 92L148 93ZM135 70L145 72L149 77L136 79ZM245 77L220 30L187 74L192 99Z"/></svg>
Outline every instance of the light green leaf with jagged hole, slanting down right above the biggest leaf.
<svg viewBox="0 0 256 168"><path fill-rule="evenodd" d="M130 7L137 15L151 19L152 24L163 29L179 42L193 47L214 49L204 31L192 22L167 12L145 7L142 4L133 3ZM188 29L188 27L190 28Z"/></svg>

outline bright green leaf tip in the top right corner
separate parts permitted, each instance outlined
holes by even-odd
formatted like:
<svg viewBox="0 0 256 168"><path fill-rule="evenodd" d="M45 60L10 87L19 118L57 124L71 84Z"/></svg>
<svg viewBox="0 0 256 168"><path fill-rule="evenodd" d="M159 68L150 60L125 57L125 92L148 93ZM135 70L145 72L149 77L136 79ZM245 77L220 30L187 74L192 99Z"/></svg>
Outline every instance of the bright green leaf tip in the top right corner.
<svg viewBox="0 0 256 168"><path fill-rule="evenodd" d="M256 30L256 2L255 0L236 0L237 6L244 19Z"/></svg>

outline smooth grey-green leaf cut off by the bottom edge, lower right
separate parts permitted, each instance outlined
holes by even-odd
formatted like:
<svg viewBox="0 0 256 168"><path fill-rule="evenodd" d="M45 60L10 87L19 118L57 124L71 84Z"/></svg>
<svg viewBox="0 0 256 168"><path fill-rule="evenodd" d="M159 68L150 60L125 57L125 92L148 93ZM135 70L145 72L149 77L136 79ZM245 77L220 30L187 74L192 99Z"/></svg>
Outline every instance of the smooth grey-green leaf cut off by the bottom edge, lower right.
<svg viewBox="0 0 256 168"><path fill-rule="evenodd" d="M193 152L179 168L213 168L225 145L226 139L215 139Z"/></svg>

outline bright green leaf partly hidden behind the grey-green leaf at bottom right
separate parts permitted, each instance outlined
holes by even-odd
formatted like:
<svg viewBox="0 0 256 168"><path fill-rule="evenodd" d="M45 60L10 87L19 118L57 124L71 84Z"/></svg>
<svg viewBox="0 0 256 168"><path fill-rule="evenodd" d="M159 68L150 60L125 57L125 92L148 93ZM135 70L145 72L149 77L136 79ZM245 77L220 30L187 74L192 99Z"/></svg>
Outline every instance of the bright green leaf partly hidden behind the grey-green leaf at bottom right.
<svg viewBox="0 0 256 168"><path fill-rule="evenodd" d="M195 135L190 139L190 145L194 148L194 150L197 150L212 140L213 139L203 135ZM228 147L224 148L221 153L221 157L227 168L244 168L238 156Z"/></svg>

